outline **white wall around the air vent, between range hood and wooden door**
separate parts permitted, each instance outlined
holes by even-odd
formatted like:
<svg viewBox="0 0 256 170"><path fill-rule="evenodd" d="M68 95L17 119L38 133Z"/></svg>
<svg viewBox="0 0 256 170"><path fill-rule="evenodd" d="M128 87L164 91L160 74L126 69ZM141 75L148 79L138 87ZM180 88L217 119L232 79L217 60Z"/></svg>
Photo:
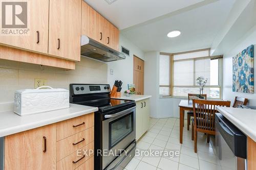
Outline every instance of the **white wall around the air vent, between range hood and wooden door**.
<svg viewBox="0 0 256 170"><path fill-rule="evenodd" d="M114 85L115 80L121 80L122 91L127 89L127 84L133 84L133 55L144 60L144 52L140 50L131 41L127 40L122 34L120 34L119 48L121 46L130 50L130 56L125 60L113 61L108 63L108 83L111 87ZM114 70L114 74L110 74L110 69Z"/></svg>

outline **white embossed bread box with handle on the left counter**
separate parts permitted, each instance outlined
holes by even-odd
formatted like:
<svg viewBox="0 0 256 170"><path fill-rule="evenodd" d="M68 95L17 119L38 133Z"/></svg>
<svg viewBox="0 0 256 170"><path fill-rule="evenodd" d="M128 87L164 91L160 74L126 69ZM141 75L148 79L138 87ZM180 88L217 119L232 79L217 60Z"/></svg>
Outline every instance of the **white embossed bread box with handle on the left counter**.
<svg viewBox="0 0 256 170"><path fill-rule="evenodd" d="M14 112L20 116L65 108L69 108L69 90L66 89L41 86L17 90L14 94Z"/></svg>

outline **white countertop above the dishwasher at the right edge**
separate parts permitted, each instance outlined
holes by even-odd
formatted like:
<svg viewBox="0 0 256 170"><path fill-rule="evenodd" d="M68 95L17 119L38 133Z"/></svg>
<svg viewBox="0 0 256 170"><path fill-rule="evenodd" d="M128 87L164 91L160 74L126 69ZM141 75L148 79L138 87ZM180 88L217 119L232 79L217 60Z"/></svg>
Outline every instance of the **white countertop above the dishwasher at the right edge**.
<svg viewBox="0 0 256 170"><path fill-rule="evenodd" d="M216 107L232 124L256 142L256 110L232 107Z"/></svg>

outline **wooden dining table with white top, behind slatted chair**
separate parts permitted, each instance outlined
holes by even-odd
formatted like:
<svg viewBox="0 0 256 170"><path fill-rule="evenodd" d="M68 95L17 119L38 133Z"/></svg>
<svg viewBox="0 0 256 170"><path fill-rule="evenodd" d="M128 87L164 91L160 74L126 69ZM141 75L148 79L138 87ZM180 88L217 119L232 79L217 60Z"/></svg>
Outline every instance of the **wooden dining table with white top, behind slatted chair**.
<svg viewBox="0 0 256 170"><path fill-rule="evenodd" d="M184 111L193 111L193 101L181 100L180 104L180 143L182 143L183 126L184 126Z"/></svg>

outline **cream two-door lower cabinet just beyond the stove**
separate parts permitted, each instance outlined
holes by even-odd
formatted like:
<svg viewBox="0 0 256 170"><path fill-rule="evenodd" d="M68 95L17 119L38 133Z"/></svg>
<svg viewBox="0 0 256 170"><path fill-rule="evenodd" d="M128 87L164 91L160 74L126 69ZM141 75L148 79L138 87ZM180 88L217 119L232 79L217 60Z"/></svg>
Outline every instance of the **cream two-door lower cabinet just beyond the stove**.
<svg viewBox="0 0 256 170"><path fill-rule="evenodd" d="M150 99L136 102L136 140L150 128Z"/></svg>

